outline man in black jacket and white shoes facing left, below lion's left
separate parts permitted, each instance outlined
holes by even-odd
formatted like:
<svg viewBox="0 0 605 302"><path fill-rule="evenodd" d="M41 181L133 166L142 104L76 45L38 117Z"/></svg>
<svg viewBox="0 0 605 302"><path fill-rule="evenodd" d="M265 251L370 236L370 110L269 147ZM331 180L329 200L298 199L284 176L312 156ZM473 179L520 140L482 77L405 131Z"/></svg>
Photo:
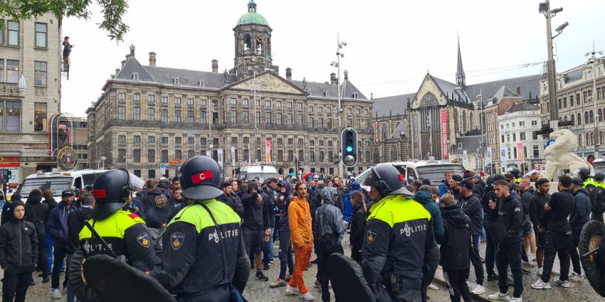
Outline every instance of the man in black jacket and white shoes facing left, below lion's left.
<svg viewBox="0 0 605 302"><path fill-rule="evenodd" d="M510 184L506 180L494 183L495 195L500 198L498 204L498 286L500 291L489 296L490 300L521 301L523 293L523 275L521 273L521 248L523 244L523 205L519 196L510 193ZM496 209L494 200L489 207ZM512 299L508 296L507 271L510 266L515 291Z"/></svg>

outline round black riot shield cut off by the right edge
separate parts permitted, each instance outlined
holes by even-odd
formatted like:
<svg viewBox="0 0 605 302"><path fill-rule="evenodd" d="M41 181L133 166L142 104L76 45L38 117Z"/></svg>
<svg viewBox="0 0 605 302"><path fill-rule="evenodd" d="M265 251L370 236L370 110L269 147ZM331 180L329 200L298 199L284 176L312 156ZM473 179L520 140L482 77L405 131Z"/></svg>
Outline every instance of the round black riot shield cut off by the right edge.
<svg viewBox="0 0 605 302"><path fill-rule="evenodd" d="M579 242L580 260L590 285L605 297L605 225L590 220L582 228ZM595 252L596 251L596 252Z"/></svg>

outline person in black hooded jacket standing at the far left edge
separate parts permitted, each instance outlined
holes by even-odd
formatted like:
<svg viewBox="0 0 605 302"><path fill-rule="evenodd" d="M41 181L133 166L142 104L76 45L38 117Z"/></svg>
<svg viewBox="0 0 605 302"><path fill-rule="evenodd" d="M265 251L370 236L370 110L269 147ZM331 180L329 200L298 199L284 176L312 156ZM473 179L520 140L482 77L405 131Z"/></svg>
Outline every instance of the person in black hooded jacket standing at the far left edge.
<svg viewBox="0 0 605 302"><path fill-rule="evenodd" d="M9 212L9 221L0 227L2 301L23 302L38 261L38 235L33 223L23 221L26 210L21 200L13 201Z"/></svg>

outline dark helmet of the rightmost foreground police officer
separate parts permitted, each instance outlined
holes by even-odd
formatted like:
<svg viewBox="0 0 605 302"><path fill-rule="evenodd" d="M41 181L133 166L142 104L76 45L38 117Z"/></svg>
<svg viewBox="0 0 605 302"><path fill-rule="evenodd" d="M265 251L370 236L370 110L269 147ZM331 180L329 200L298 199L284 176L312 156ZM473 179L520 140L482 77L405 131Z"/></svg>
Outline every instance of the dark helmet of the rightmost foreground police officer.
<svg viewBox="0 0 605 302"><path fill-rule="evenodd" d="M371 168L372 174L364 181L378 190L380 195L414 195L404 186L404 176L389 163L379 163Z"/></svg>

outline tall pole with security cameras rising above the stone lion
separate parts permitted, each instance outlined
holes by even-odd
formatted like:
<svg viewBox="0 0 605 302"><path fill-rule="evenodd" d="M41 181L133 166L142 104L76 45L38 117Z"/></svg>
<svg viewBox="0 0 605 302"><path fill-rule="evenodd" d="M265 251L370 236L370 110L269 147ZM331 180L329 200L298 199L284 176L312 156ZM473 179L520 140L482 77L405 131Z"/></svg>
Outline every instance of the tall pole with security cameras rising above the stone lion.
<svg viewBox="0 0 605 302"><path fill-rule="evenodd" d="M562 8L550 9L549 0L545 0L540 3L540 13L544 14L546 17L546 38L547 38L547 48L548 48L548 60L547 60L547 68L548 68L548 99L550 103L550 128L553 131L557 131L559 128L559 106L557 104L557 70L554 66L554 58L552 55L552 40L559 36L563 28L567 27L569 23L565 22L561 26L557 27L555 31L557 34L552 36L552 28L550 21L552 17L556 16L557 13L563 11Z"/></svg>

